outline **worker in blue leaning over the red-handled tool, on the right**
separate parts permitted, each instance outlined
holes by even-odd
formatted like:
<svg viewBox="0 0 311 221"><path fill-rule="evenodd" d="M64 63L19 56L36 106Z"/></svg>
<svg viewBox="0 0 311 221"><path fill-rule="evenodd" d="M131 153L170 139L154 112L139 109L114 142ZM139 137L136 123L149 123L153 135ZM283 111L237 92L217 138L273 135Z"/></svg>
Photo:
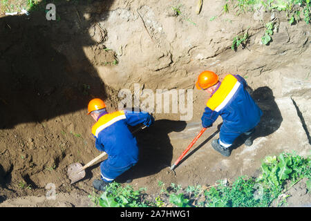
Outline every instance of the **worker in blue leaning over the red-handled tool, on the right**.
<svg viewBox="0 0 311 221"><path fill-rule="evenodd" d="M246 146L252 145L254 128L263 115L246 87L247 83L240 75L226 75L221 82L218 75L209 70L200 73L196 82L198 90L211 95L201 118L202 126L210 127L219 115L223 117L219 139L214 139L211 146L225 157L229 157L230 147L240 135Z"/></svg>

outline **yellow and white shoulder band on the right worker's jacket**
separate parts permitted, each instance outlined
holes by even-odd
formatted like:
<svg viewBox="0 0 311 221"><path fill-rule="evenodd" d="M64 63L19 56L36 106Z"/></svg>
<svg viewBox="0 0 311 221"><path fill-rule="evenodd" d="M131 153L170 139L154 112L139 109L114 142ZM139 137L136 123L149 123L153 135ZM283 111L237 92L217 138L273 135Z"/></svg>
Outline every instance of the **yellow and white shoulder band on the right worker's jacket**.
<svg viewBox="0 0 311 221"><path fill-rule="evenodd" d="M207 107L212 111L220 111L232 99L239 86L240 82L233 75L227 75L216 93L207 101Z"/></svg>

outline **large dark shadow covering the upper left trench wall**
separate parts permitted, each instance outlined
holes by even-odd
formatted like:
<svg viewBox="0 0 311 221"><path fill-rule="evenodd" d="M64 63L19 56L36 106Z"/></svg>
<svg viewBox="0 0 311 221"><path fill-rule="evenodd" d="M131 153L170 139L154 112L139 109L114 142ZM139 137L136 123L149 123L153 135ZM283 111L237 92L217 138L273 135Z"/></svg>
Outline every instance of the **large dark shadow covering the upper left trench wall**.
<svg viewBox="0 0 311 221"><path fill-rule="evenodd" d="M46 19L44 2L30 16L0 18L0 128L42 122L107 97L84 47L98 45L88 33L92 12L105 13L113 0L55 1L56 21Z"/></svg>

